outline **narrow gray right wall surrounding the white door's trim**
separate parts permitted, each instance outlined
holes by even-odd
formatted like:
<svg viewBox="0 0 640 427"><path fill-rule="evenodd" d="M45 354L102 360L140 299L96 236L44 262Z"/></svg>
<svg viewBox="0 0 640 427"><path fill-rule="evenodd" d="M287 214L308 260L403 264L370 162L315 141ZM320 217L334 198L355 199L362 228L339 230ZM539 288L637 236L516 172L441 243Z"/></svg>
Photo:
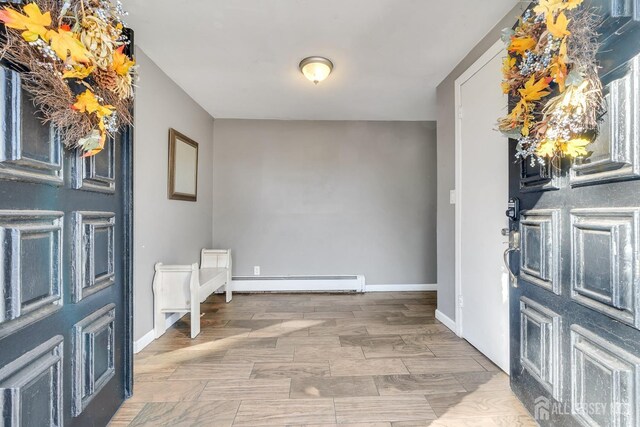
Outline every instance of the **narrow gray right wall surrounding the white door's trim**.
<svg viewBox="0 0 640 427"><path fill-rule="evenodd" d="M455 91L456 79L500 38L503 28L511 27L526 8L516 5L469 52L437 89L438 104L438 310L455 320L455 206L449 191L455 188ZM496 117L496 120L498 118ZM506 147L505 147L506 149ZM508 195L505 194L505 209Z"/></svg>

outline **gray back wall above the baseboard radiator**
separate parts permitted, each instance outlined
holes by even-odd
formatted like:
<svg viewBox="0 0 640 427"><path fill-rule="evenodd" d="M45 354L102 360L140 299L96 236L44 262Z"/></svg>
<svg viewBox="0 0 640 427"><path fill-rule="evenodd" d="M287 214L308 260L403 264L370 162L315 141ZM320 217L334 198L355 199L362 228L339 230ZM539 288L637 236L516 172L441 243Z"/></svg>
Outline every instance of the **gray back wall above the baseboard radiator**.
<svg viewBox="0 0 640 427"><path fill-rule="evenodd" d="M214 245L234 275L436 281L433 122L216 120Z"/></svg>

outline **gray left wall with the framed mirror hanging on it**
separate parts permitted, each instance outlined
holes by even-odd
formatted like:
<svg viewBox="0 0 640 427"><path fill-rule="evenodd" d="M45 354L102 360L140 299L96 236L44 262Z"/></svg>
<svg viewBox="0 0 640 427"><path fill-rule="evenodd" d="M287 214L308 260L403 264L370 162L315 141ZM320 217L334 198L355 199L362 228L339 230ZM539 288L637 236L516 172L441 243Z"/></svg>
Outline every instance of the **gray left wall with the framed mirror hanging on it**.
<svg viewBox="0 0 640 427"><path fill-rule="evenodd" d="M134 339L153 328L153 266L198 262L211 246L213 118L140 49L134 141ZM198 201L167 198L168 131L199 146Z"/></svg>

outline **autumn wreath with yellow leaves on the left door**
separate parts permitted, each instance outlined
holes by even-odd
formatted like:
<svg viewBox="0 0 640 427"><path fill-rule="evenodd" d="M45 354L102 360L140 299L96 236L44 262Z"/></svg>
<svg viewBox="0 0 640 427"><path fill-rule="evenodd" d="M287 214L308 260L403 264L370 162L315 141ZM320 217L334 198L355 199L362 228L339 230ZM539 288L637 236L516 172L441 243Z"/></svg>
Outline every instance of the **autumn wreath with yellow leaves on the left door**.
<svg viewBox="0 0 640 427"><path fill-rule="evenodd" d="M21 72L43 121L84 156L132 124L136 67L126 54L124 15L110 0L36 0L0 10L3 60Z"/></svg>

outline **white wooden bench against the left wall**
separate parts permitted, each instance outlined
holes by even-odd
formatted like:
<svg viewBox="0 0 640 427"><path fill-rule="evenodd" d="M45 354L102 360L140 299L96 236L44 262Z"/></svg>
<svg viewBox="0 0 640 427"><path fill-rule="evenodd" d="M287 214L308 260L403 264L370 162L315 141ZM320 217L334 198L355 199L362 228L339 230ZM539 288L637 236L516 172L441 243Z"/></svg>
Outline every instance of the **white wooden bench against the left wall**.
<svg viewBox="0 0 640 427"><path fill-rule="evenodd" d="M191 338L200 333L200 303L225 287L231 301L231 251L203 249L198 264L164 265L157 263L153 277L155 337L166 330L167 313L191 313Z"/></svg>

